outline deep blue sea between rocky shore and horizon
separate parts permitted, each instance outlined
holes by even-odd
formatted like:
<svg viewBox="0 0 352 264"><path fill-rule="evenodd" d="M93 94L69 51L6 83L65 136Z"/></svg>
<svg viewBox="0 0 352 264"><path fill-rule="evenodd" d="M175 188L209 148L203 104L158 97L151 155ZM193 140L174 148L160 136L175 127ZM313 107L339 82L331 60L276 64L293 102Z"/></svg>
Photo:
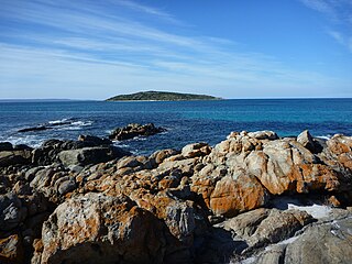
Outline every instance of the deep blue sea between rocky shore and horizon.
<svg viewBox="0 0 352 264"><path fill-rule="evenodd" d="M51 130L19 129L55 124ZM79 134L107 136L117 127L153 122L167 132L116 142L136 154L180 148L205 141L211 145L231 131L273 130L298 135L352 135L352 99L239 99L219 101L0 101L0 141L38 146L47 139L75 140Z"/></svg>

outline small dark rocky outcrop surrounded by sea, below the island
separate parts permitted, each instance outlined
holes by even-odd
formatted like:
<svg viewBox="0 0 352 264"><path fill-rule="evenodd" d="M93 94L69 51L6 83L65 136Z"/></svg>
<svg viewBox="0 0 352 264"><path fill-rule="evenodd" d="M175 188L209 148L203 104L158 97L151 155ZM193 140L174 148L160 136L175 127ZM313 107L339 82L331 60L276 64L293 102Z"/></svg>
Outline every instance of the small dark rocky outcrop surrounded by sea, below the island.
<svg viewBox="0 0 352 264"><path fill-rule="evenodd" d="M156 128L153 123L139 124L131 123L123 128L118 128L109 135L110 140L130 140L135 136L148 136L166 131L164 128Z"/></svg>

